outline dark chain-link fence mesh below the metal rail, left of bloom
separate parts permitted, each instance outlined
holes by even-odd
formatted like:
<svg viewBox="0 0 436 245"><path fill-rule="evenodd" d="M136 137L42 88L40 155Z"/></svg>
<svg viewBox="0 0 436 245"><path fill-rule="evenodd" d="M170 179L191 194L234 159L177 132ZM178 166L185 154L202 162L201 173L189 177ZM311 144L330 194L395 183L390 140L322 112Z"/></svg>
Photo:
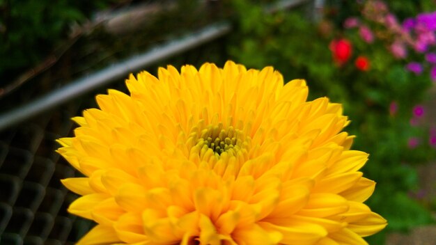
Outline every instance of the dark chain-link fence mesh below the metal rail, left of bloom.
<svg viewBox="0 0 436 245"><path fill-rule="evenodd" d="M78 173L54 151L78 109L72 102L0 133L0 244L72 244L93 226L66 212L77 195L59 180Z"/></svg>

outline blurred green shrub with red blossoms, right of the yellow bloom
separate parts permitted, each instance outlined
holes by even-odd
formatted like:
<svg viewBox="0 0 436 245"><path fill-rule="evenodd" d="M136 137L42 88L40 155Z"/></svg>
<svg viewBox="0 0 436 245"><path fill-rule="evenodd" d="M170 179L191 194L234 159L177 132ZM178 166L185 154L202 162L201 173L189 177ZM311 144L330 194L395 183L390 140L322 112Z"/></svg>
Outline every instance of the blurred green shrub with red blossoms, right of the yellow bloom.
<svg viewBox="0 0 436 245"><path fill-rule="evenodd" d="M366 29L344 30L345 16L361 16L364 8L356 1L346 2L343 12L327 8L328 18L315 24L301 14L304 11L267 15L249 1L235 1L240 35L233 36L235 45L229 52L248 67L272 65L287 80L306 79L312 97L328 96L342 103L352 120L347 131L357 135L353 148L371 154L364 171L378 184L368 204L389 221L387 230L429 223L430 212L410 193L418 188L413 164L434 159L435 149L427 141L419 147L413 144L415 136L428 139L428 128L411 125L410 120L416 119L414 106L432 84L430 76L405 69L410 60L391 54L393 40L373 33L388 34L380 24L361 17ZM410 10L419 9L416 6L420 5L401 13L410 15ZM382 234L369 239L370 244L382 244L384 238Z"/></svg>

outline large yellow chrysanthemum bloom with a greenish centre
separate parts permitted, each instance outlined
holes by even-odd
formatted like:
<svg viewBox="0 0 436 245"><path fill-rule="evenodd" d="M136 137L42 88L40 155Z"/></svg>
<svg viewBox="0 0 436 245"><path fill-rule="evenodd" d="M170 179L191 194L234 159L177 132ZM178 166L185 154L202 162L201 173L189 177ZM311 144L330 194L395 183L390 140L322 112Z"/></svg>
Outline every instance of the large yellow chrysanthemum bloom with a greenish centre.
<svg viewBox="0 0 436 245"><path fill-rule="evenodd" d="M169 66L98 95L59 152L84 177L79 244L366 244L386 226L340 104L303 80L228 62Z"/></svg>

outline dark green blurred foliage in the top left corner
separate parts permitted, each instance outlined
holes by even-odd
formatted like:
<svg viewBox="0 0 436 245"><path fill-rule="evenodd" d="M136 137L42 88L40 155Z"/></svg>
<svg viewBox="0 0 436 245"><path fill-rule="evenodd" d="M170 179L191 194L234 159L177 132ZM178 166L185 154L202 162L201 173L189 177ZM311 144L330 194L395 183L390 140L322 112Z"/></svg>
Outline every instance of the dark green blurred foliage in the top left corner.
<svg viewBox="0 0 436 245"><path fill-rule="evenodd" d="M52 52L72 23L114 1L0 0L0 85Z"/></svg>

